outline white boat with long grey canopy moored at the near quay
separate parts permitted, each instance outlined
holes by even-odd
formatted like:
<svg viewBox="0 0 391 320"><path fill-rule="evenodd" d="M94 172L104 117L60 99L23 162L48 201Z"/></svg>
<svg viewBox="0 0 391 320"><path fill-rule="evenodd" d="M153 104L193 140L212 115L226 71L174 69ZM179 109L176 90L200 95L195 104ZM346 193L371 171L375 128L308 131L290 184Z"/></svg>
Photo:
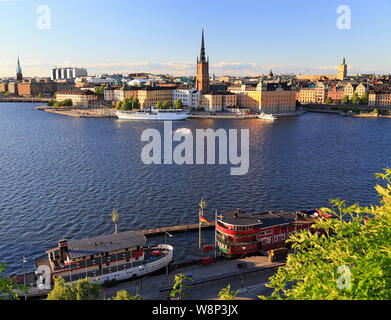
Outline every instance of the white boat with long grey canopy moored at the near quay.
<svg viewBox="0 0 391 320"><path fill-rule="evenodd" d="M15 278L29 287L28 295L47 294L54 279L71 283L89 277L92 281L125 280L153 273L167 267L173 258L173 247L159 244L146 247L145 236L126 231L89 239L66 239L47 250L48 257L36 259L36 271Z"/></svg>

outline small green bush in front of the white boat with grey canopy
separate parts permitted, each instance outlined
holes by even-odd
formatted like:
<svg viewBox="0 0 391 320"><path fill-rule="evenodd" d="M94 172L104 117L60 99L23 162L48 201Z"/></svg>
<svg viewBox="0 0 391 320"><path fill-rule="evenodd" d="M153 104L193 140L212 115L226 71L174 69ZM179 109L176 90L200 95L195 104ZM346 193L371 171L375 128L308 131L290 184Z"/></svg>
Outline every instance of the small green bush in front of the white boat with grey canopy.
<svg viewBox="0 0 391 320"><path fill-rule="evenodd" d="M47 300L95 300L100 296L101 286L89 278L80 279L77 283L66 284L63 278L57 278L54 288Z"/></svg>

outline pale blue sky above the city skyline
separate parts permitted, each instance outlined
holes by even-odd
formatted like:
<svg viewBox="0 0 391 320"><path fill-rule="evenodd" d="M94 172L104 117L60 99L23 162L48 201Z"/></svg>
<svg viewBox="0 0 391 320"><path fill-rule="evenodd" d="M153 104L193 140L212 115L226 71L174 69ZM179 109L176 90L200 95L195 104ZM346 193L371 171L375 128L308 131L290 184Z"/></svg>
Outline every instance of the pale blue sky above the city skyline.
<svg viewBox="0 0 391 320"><path fill-rule="evenodd" d="M37 27L40 5L50 29ZM337 27L340 5L350 29ZM390 17L391 0L0 0L0 77L15 76L18 53L25 76L195 75L202 25L216 75L335 73L342 56L348 73L391 73Z"/></svg>

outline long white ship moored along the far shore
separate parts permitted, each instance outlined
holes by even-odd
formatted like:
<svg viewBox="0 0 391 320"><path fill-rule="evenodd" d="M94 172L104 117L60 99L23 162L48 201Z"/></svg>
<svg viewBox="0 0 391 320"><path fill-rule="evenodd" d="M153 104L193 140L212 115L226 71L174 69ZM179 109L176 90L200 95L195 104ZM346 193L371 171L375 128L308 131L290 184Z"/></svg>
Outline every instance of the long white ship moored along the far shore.
<svg viewBox="0 0 391 320"><path fill-rule="evenodd" d="M185 120L190 117L190 114L183 111L167 111L152 109L150 111L122 111L116 112L120 120L160 120L160 121L175 121Z"/></svg>

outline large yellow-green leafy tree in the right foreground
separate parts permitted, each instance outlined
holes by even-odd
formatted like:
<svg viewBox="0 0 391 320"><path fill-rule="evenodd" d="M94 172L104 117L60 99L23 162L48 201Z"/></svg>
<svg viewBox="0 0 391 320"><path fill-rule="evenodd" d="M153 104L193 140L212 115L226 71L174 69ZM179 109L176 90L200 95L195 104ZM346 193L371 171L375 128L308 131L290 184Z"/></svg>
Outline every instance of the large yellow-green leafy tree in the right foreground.
<svg viewBox="0 0 391 320"><path fill-rule="evenodd" d="M333 218L313 225L326 235L303 230L291 236L297 254L289 254L286 266L270 278L269 298L391 299L391 169L376 178L387 182L375 187L378 206L331 200L332 207L321 210Z"/></svg>

